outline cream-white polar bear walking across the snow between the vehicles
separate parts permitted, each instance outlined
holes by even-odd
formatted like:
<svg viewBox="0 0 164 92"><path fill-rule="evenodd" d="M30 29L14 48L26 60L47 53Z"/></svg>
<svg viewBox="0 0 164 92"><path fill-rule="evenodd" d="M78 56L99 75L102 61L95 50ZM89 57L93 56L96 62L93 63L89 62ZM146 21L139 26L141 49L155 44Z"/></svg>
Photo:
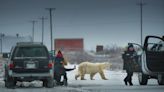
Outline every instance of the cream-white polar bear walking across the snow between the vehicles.
<svg viewBox="0 0 164 92"><path fill-rule="evenodd" d="M91 63L91 62L82 62L78 66L78 72L75 75L75 79L81 77L81 80L85 80L85 74L90 74L90 79L94 80L93 77L96 73L99 73L103 80L107 80L104 75L103 70L110 67L110 63Z"/></svg>

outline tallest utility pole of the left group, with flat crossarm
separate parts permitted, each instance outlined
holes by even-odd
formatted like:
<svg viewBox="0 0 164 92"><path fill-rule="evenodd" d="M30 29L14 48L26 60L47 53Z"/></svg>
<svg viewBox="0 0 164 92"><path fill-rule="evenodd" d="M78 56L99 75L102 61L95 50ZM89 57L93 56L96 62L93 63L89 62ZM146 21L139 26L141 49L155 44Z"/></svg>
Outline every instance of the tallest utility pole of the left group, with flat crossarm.
<svg viewBox="0 0 164 92"><path fill-rule="evenodd" d="M55 10L55 8L46 8L46 10L49 10L50 15L50 39L51 39L51 51L53 50L53 38L52 38L52 11Z"/></svg>

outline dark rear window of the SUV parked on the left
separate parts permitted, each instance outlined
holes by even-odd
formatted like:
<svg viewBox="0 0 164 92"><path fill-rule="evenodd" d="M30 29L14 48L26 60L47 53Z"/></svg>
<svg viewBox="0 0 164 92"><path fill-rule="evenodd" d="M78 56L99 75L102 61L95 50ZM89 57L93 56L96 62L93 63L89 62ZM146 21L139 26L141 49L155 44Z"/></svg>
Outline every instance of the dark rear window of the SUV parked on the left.
<svg viewBox="0 0 164 92"><path fill-rule="evenodd" d="M19 57L42 57L47 58L47 51L44 47L17 47L14 58Z"/></svg>

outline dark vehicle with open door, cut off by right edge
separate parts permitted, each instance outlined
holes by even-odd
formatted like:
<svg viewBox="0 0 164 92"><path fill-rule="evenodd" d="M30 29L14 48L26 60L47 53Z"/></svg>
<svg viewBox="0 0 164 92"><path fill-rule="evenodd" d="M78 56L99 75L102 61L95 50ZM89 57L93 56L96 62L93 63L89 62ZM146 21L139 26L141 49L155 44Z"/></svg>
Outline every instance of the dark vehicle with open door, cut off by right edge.
<svg viewBox="0 0 164 92"><path fill-rule="evenodd" d="M140 85L147 85L148 79L157 79L159 85L164 85L164 37L146 36L139 57L140 69L138 79ZM140 71L141 70L141 71Z"/></svg>

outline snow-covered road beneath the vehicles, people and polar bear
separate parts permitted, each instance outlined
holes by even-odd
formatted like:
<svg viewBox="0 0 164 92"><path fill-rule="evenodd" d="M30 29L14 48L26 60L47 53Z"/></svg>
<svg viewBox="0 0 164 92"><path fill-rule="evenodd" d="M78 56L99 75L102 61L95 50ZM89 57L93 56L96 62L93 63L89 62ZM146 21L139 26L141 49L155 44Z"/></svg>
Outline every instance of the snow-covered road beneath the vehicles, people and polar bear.
<svg viewBox="0 0 164 92"><path fill-rule="evenodd" d="M109 80L101 80L97 74L95 80L75 80L75 71L68 72L68 87L57 86L54 88L43 88L42 82L25 83L26 87L17 87L15 89L6 89L4 82L0 80L0 92L163 92L164 86L158 86L155 79L151 79L147 86L140 86L137 74L133 76L134 86L125 86L122 81L125 73L122 71L105 71Z"/></svg>

